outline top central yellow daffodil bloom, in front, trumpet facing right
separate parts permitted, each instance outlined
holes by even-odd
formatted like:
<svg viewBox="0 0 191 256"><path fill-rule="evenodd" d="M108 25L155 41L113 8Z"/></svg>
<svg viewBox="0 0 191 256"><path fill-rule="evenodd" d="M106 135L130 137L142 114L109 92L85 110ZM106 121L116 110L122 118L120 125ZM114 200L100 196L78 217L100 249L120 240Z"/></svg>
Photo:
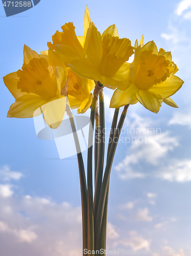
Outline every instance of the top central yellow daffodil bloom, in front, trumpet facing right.
<svg viewBox="0 0 191 256"><path fill-rule="evenodd" d="M129 39L118 38L115 25L101 35L94 24L90 23L83 57L71 60L69 67L78 75L99 80L108 88L120 88L123 86L121 78L124 69L128 66L126 61L134 53L133 49Z"/></svg>

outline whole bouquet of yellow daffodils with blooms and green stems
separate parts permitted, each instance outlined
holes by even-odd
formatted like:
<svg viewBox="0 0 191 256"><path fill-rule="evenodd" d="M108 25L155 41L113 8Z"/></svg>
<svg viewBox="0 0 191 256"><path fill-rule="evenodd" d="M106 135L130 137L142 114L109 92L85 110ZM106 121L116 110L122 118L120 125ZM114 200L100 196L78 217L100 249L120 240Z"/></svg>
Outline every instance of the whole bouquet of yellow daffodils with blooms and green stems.
<svg viewBox="0 0 191 256"><path fill-rule="evenodd" d="M106 227L109 180L118 138L129 105L140 102L158 113L162 102L174 108L170 98L182 86L171 52L159 50L154 41L144 45L143 36L134 46L120 38L115 25L101 34L91 22L88 7L84 15L84 35L77 36L73 23L56 31L49 50L40 54L24 46L23 66L4 77L15 98L8 117L28 118L43 114L47 125L57 129L65 113L73 130L81 185L83 251L82 254L106 254ZM134 54L132 63L127 62ZM105 154L104 87L113 90L110 108L114 108L110 138ZM117 123L119 109L124 107ZM87 177L71 109L78 114L91 108ZM96 126L96 127L94 127ZM104 156L106 164L104 166ZM92 169L94 168L94 178ZM94 191L93 191L94 182ZM93 195L94 194L94 195ZM102 253L102 254L103 254Z"/></svg>

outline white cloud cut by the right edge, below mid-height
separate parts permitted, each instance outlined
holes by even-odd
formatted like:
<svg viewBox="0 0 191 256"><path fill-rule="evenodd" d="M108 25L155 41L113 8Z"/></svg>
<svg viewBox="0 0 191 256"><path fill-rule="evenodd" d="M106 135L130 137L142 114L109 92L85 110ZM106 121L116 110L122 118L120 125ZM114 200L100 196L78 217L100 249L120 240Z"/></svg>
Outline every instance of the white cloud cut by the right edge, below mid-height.
<svg viewBox="0 0 191 256"><path fill-rule="evenodd" d="M188 182L191 180L191 160L174 160L168 166L160 169L156 176L171 182Z"/></svg>

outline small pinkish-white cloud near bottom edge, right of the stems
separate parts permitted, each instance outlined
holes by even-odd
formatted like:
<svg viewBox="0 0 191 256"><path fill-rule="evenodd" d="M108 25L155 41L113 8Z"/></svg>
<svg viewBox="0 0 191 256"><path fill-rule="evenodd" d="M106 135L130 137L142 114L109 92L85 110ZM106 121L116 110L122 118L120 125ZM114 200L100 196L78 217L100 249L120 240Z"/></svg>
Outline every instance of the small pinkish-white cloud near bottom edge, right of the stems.
<svg viewBox="0 0 191 256"><path fill-rule="evenodd" d="M129 234L130 234L130 238L123 239L119 241L118 244L130 246L133 250L140 250L140 249L150 250L151 241L142 238L134 230L130 231Z"/></svg>

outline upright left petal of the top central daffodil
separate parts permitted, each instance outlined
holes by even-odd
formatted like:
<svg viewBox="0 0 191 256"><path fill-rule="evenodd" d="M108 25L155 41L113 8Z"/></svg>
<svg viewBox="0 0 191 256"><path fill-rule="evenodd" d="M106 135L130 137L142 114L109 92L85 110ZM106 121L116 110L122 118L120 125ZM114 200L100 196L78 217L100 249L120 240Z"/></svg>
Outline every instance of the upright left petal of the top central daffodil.
<svg viewBox="0 0 191 256"><path fill-rule="evenodd" d="M95 26L88 31L87 56L94 67L98 68L103 55L101 34Z"/></svg>

